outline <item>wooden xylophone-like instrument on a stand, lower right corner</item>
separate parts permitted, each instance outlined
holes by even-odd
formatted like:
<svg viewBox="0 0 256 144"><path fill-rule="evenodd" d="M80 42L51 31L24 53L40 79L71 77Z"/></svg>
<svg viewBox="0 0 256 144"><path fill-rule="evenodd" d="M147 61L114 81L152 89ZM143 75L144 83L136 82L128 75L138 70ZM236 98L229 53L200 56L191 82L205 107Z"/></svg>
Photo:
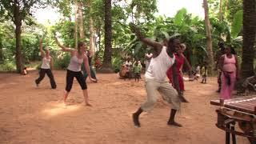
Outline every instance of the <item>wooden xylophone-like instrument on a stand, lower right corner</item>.
<svg viewBox="0 0 256 144"><path fill-rule="evenodd" d="M247 137L251 143L256 143L256 95L228 100L212 100L210 104L220 106L216 110L218 119L216 126L227 134ZM241 130L234 130L238 124ZM230 126L233 126L232 129ZM226 138L229 138L226 136ZM226 143L229 140L226 140Z"/></svg>

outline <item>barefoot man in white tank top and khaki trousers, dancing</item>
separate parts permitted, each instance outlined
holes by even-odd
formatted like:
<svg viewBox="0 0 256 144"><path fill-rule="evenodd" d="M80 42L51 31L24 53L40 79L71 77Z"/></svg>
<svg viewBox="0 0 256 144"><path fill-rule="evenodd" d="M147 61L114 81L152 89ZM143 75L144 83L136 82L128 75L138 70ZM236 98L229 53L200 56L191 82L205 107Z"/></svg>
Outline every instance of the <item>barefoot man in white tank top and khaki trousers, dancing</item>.
<svg viewBox="0 0 256 144"><path fill-rule="evenodd" d="M133 24L130 25L131 30L136 34L136 36L148 46L154 48L153 58L151 59L150 66L146 70L145 82L146 82L146 93L147 100L138 108L138 110L133 114L134 126L140 127L140 122L138 120L139 115L143 111L151 110L154 107L155 102L157 102L157 94L155 93L158 90L162 94L162 98L172 104L170 111L170 119L168 125L173 126L182 126L178 122L174 121L175 114L180 108L181 100L182 102L187 102L185 98L182 97L178 86L177 79L177 70L174 66L174 86L177 87L177 91L166 81L166 71L170 66L174 65L175 57L173 54L174 48L180 46L178 38L170 38L168 47L162 46L158 42L153 42L149 38L144 38L138 27Z"/></svg>

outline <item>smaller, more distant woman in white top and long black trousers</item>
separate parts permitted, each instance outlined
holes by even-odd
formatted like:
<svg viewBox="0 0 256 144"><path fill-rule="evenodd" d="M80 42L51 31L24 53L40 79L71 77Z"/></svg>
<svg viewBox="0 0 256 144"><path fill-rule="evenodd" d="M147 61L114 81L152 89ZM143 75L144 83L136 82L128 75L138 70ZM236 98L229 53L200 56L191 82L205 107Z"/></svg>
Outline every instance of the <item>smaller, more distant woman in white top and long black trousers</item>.
<svg viewBox="0 0 256 144"><path fill-rule="evenodd" d="M42 38L39 42L39 49L41 52L42 57L42 66L40 68L39 72L39 78L35 80L36 85L38 86L39 83L42 81L43 78L45 78L45 75L50 78L50 86L52 89L56 89L56 82L54 81L54 74L52 73L52 70L54 70L54 59L50 56L50 50L46 48L46 52L42 50Z"/></svg>

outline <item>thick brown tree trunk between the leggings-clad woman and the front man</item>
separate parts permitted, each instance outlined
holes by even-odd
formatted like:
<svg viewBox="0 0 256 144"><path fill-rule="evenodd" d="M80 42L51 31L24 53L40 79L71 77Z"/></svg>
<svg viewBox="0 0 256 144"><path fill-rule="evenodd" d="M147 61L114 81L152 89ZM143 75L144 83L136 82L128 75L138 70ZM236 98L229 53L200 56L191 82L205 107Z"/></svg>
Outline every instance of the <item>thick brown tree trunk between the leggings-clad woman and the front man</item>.
<svg viewBox="0 0 256 144"><path fill-rule="evenodd" d="M111 22L111 0L105 0L105 50L103 56L102 72L113 72L111 65L112 56L112 22Z"/></svg>

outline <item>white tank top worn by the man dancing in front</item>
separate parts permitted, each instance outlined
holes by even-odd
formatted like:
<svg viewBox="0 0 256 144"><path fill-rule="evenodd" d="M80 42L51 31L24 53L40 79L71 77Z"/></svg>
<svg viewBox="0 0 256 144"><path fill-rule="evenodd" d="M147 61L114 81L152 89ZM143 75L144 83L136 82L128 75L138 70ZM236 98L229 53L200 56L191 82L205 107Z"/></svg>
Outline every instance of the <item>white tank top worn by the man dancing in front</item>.
<svg viewBox="0 0 256 144"><path fill-rule="evenodd" d="M146 70L145 77L157 81L166 80L166 72L174 64L175 56L170 58L166 52L166 46L162 47L161 53L156 58L151 58L150 66Z"/></svg>

